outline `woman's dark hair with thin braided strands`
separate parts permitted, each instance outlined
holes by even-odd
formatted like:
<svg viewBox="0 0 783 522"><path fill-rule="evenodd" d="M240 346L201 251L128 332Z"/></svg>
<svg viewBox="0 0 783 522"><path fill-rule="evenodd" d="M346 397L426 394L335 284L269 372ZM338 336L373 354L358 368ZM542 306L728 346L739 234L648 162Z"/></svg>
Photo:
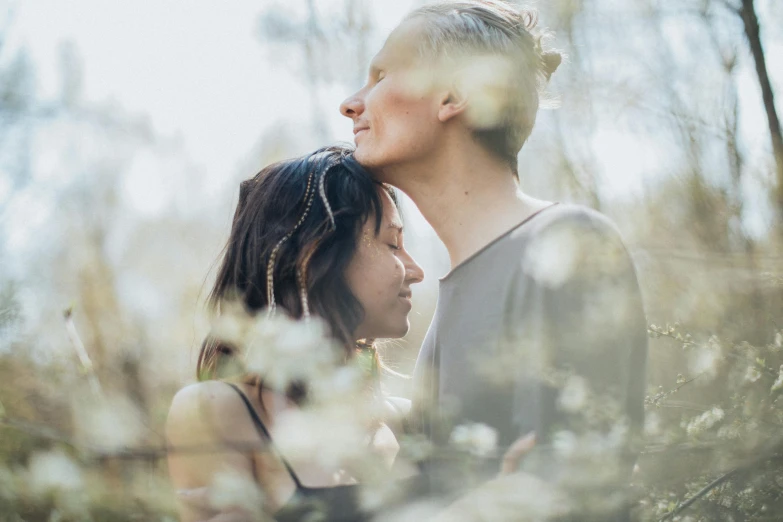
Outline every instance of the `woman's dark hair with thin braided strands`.
<svg viewBox="0 0 783 522"><path fill-rule="evenodd" d="M317 193L321 178L329 208ZM308 180L310 189L316 192L309 211L305 212L310 199ZM219 314L221 304L227 300L238 300L251 315L268 306L270 255L280 239L301 220L277 253L273 272L277 307L292 318L301 318L300 285L303 285L310 313L326 322L329 333L345 347L346 357L353 356L357 349L369 349L377 366L379 361L372 344L357 344L353 337L364 318L364 309L351 292L345 271L367 219L373 217L375 233L380 231L383 200L379 189L386 190L397 204L394 191L375 181L354 160L352 150L341 146L324 147L300 158L272 164L243 181L231 234L209 294L212 310ZM301 283L298 273L303 276ZM196 368L199 380L225 376L222 370L237 362L236 351L237 347L225 341L207 337ZM244 377L254 384L262 384L261 376ZM287 393L301 400L304 385L295 384Z"/></svg>

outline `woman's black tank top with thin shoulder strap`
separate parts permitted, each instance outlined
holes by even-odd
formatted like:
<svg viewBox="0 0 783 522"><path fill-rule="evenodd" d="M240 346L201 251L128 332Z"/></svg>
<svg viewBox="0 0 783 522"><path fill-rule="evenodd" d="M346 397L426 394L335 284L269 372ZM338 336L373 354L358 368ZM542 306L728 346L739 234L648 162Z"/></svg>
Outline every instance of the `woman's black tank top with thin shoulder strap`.
<svg viewBox="0 0 783 522"><path fill-rule="evenodd" d="M357 484L324 488L308 488L302 485L291 465L275 447L269 430L261 422L261 418L252 404L250 404L250 400L237 386L231 383L226 384L234 388L242 398L259 435L269 444L269 448L277 454L286 471L291 475L294 484L296 484L294 495L273 515L277 522L296 522L300 520L364 522L372 519L372 514L363 511L359 506Z"/></svg>

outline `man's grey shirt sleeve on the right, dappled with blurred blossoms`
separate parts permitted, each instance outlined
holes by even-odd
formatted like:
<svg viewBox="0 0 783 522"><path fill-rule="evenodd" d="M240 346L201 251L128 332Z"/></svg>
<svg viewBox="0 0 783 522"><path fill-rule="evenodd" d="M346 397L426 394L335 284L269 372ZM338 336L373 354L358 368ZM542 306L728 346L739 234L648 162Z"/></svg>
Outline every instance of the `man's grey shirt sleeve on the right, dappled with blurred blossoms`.
<svg viewBox="0 0 783 522"><path fill-rule="evenodd" d="M515 267L506 316L514 429L537 438L522 469L576 487L627 481L644 417L647 332L614 226L569 216L537 231Z"/></svg>

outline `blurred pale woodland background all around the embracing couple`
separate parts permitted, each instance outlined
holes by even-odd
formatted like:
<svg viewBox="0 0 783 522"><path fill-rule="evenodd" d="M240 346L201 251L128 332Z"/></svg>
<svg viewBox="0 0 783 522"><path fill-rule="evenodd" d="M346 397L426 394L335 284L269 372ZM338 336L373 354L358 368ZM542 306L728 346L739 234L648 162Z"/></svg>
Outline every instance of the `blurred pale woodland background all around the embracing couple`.
<svg viewBox="0 0 783 522"><path fill-rule="evenodd" d="M0 514L9 519L171 515L155 448L171 396L194 379L207 274L238 182L350 141L339 102L418 2L100 4L36 0L0 14ZM559 107L540 113L520 155L522 186L618 223L657 325L639 517L665 517L700 495L672 519L776 520L783 7L537 8L567 60L550 86ZM411 334L385 350L403 373L448 268L412 205L405 214L428 281ZM71 307L102 402L66 328ZM404 380L387 385L408 393ZM100 456L124 447L139 458ZM52 473L41 469L62 475L43 496L36 473ZM57 493L68 488L91 493L69 504Z"/></svg>

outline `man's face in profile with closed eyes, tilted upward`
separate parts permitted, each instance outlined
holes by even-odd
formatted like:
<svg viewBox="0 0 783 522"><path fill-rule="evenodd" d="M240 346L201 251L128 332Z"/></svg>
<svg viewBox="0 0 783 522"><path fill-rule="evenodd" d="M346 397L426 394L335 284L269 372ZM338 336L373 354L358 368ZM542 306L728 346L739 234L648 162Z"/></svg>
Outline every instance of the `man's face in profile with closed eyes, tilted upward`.
<svg viewBox="0 0 783 522"><path fill-rule="evenodd" d="M340 105L353 120L356 159L380 178L384 168L426 155L441 135L434 74L418 57L420 24L404 22L389 35L367 84Z"/></svg>

